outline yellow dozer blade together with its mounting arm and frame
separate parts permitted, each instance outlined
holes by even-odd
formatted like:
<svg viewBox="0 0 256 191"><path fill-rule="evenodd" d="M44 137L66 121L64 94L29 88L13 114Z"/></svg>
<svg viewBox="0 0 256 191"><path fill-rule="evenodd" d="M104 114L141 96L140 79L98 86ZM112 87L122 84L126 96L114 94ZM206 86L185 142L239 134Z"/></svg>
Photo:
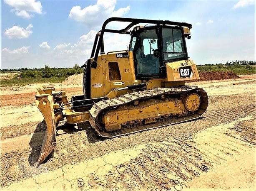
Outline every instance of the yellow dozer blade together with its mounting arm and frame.
<svg viewBox="0 0 256 191"><path fill-rule="evenodd" d="M73 110L65 91L56 92L53 86L40 86L36 88L36 93L35 103L43 114L46 123L45 136L37 163L38 167L56 147L55 132L58 122L63 121L65 117L67 124L78 124L88 121L90 114L86 108L80 112ZM77 107L81 108L80 105Z"/></svg>

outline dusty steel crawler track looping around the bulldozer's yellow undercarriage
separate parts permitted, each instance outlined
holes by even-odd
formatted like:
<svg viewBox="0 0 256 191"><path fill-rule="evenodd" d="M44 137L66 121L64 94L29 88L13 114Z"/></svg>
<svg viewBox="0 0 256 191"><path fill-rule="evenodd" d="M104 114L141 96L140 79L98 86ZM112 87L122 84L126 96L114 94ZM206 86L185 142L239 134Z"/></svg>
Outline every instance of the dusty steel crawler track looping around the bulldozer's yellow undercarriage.
<svg viewBox="0 0 256 191"><path fill-rule="evenodd" d="M179 118L168 118L168 120L155 122L151 124L143 124L138 125L136 127L131 128L123 128L122 130L116 130L112 132L106 132L105 127L102 127L100 122L100 118L109 111L109 110L118 110L118 107L125 104L134 104L135 101L143 101L146 99L161 99L162 95L182 95L183 93L197 92L200 96L200 106L198 110L192 113L188 113L189 115L182 116ZM138 91L132 93L126 93L123 96L118 98L101 100L98 103L94 103L93 107L90 111L90 124L95 129L98 135L101 137L113 138L120 137L122 135L128 135L135 132L141 132L145 130L155 129L158 127L164 127L167 125L174 125L181 122L191 121L200 118L203 113L206 111L208 106L208 96L206 91L202 88L198 88L197 86L177 86L173 88L152 88L145 91ZM140 120L140 119L138 119ZM101 124L101 125L100 125Z"/></svg>

